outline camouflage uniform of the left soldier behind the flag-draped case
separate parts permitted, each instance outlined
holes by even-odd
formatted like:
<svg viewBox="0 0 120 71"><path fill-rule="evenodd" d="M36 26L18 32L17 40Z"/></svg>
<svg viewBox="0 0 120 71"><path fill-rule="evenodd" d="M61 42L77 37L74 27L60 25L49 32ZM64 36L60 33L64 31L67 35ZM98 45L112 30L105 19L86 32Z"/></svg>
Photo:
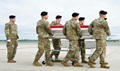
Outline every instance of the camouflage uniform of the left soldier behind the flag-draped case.
<svg viewBox="0 0 120 71"><path fill-rule="evenodd" d="M57 23L56 21L52 21L52 23L50 24L51 26L56 26L56 25L61 25L60 23ZM53 48L54 50L61 50L61 40L60 39L52 39L52 44L53 44ZM51 53L51 58L53 55L55 55L55 58L58 58L60 54L60 51L53 51Z"/></svg>

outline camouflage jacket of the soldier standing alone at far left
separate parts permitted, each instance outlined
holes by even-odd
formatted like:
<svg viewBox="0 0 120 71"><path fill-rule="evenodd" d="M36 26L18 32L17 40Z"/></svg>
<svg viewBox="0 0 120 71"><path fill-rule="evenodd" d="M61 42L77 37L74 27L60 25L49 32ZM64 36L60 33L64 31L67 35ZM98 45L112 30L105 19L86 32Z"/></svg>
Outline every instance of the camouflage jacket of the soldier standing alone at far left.
<svg viewBox="0 0 120 71"><path fill-rule="evenodd" d="M5 24L5 35L7 40L8 39L18 39L18 28L15 23L8 22Z"/></svg>

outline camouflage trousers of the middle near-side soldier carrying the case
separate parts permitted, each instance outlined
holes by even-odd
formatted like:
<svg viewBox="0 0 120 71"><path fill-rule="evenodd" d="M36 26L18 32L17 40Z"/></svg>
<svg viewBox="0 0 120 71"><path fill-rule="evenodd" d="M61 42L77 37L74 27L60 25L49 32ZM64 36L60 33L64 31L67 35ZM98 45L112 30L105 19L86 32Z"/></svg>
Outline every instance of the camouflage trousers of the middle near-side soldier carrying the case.
<svg viewBox="0 0 120 71"><path fill-rule="evenodd" d="M69 60L71 60L73 62L78 62L79 61L78 40L69 41L69 46L70 46L69 51L63 61L68 62Z"/></svg>

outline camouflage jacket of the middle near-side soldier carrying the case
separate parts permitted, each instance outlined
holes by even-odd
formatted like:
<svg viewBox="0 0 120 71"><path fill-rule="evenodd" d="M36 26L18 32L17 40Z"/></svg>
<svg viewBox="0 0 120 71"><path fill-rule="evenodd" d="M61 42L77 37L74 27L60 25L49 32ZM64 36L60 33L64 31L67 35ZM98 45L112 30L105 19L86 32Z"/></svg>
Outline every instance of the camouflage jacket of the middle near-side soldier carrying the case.
<svg viewBox="0 0 120 71"><path fill-rule="evenodd" d="M63 34L68 40L78 40L82 37L81 28L74 19L71 19L65 23Z"/></svg>

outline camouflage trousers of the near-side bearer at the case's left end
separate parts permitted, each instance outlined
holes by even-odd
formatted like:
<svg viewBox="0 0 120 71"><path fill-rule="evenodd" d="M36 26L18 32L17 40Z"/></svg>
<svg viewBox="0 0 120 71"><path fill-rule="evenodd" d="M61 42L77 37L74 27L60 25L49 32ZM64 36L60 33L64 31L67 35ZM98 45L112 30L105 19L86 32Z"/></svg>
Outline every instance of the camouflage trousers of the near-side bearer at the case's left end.
<svg viewBox="0 0 120 71"><path fill-rule="evenodd" d="M38 61L45 52L45 59L50 60L50 41L45 38L38 38L38 52L35 56L35 61Z"/></svg>

